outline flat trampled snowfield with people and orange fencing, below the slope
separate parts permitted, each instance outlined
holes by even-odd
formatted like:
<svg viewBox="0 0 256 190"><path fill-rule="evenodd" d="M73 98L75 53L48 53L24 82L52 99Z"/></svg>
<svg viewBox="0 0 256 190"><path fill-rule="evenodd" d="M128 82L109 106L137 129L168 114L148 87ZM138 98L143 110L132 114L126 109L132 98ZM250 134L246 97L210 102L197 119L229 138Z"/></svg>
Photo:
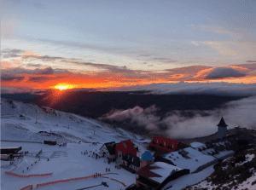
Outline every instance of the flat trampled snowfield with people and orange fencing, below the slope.
<svg viewBox="0 0 256 190"><path fill-rule="evenodd" d="M19 189L21 187L25 187L26 185L32 184L34 187L38 183L44 183L48 181L56 181L56 180L65 180L74 177L82 177L82 176L91 176L97 173L117 173L118 175L109 175L108 179L98 177L98 178L90 178L82 181L73 181L67 183L59 183L55 185L51 185L50 189L77 189L82 187L90 187L97 184L100 184L102 181L106 181L108 186L111 189L125 189L125 187L119 182L112 181L110 178L116 179L118 181L122 181L126 186L131 185L135 182L135 175L127 170L117 170L114 168L114 163L108 164L107 158L91 158L88 157L90 154L84 155L85 150L88 152L96 151L102 146L98 145L90 145L88 143L82 144L74 144L67 143L67 147L56 147L49 146L44 144L31 144L26 142L2 142L2 146L17 146L20 145L22 150L29 151L29 154L25 155L23 159L16 160L17 167L2 168L1 176L2 176L2 184L1 189ZM32 155L38 153L38 151L42 148L43 153L40 155L40 161L38 158L34 158ZM47 161L49 158L49 161ZM104 159L106 163L104 162ZM34 162L37 161L37 164ZM1 164L8 164L9 162L1 161ZM33 165L31 165L33 164ZM29 170L26 170L26 167L29 167ZM106 168L110 168L110 172L106 172ZM14 170L15 169L15 170ZM35 177L35 178L19 178L14 176L5 175L5 171L10 171L20 174L20 175L29 175L29 174L45 174L45 173L53 173L53 176L46 177ZM24 170L24 173L22 172ZM125 177L124 177L125 176ZM15 180L15 183L13 182ZM101 187L102 189L109 189L108 187ZM49 187L38 187L38 189L49 189Z"/></svg>

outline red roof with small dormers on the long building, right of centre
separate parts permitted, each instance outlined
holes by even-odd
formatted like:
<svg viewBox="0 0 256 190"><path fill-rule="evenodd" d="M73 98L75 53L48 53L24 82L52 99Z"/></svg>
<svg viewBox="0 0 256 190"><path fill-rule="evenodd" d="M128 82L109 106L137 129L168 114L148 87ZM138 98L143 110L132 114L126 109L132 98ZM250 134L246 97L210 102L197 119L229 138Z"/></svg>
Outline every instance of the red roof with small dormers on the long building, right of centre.
<svg viewBox="0 0 256 190"><path fill-rule="evenodd" d="M168 139L159 135L155 135L149 146L160 148L167 152L172 152L177 148L179 141Z"/></svg>

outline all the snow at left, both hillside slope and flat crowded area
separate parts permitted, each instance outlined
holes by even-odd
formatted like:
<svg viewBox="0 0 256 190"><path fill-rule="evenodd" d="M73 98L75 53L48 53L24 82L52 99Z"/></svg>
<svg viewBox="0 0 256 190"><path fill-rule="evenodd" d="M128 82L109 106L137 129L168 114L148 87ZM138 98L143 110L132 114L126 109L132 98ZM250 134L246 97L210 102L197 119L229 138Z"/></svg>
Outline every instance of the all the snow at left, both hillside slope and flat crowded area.
<svg viewBox="0 0 256 190"><path fill-rule="evenodd" d="M45 107L42 109L36 105L25 104L18 101L11 101L12 103L5 99L1 101L1 146L21 146L21 151L29 152L24 158L16 159L15 165L9 165L9 162L1 160L2 190L20 189L30 184L35 187L38 183L91 176L96 172L102 174L114 172L117 173L117 175L109 174L106 176L108 178L97 177L81 181L58 183L50 187L38 187L38 189L70 190L95 186L101 184L102 181L106 181L109 187L100 186L98 188L102 190L119 190L125 189L125 187L118 181L125 183L126 186L135 183L135 174L127 170L115 169L115 164L108 164L107 159L105 160L106 162L104 162L104 158L91 158L91 156L89 157L90 153L84 155L81 154L81 152L84 153L84 151L87 150L88 152L93 151L98 153L99 148L102 147L102 144L105 142L119 142L131 139L131 141L136 141L136 145L141 150L137 153L139 156L139 154L144 153L144 150L146 150L146 146L143 142L149 140L143 140L140 135L135 135L125 130L115 130L111 125L103 124L90 118L83 118L72 113L58 112ZM45 110L47 112L44 112ZM20 117L21 114L24 117ZM37 124L36 119L38 121ZM56 135L38 133L39 131L49 132L50 130ZM44 140L57 141L57 143L67 142L67 147L44 145L42 143ZM39 143L32 143L31 141L38 141ZM78 144L78 141L81 141L81 144ZM91 142L99 143L92 146ZM35 158L35 154L41 149L43 153L40 155L40 161L38 161L38 158ZM47 158L49 158L49 161L47 161ZM37 161L37 164L35 164L35 161ZM26 170L27 167L29 167L29 170ZM106 172L106 168L110 168L110 172ZM53 175L19 178L5 175L5 171L11 171L20 175L52 172Z"/></svg>

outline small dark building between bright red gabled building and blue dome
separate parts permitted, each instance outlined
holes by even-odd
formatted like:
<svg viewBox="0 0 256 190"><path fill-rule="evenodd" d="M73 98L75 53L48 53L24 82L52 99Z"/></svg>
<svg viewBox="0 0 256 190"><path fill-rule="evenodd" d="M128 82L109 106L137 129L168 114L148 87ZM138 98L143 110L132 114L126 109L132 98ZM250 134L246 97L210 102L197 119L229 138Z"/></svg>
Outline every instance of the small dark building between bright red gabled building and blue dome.
<svg viewBox="0 0 256 190"><path fill-rule="evenodd" d="M127 153L123 157L121 165L125 166L126 169L136 173L137 170L140 170L140 158L133 156L131 153Z"/></svg>

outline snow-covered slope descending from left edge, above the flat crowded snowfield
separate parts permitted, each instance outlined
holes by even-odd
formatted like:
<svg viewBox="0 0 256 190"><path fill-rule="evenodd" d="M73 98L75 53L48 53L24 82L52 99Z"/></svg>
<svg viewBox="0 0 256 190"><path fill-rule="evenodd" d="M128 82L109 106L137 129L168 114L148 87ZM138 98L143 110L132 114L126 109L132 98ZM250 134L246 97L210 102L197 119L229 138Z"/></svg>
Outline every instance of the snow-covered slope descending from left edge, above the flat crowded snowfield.
<svg viewBox="0 0 256 190"><path fill-rule="evenodd" d="M61 142L141 141L140 135L113 129L108 124L49 107L2 99L1 139L16 141L55 140ZM38 133L39 131L52 132Z"/></svg>

